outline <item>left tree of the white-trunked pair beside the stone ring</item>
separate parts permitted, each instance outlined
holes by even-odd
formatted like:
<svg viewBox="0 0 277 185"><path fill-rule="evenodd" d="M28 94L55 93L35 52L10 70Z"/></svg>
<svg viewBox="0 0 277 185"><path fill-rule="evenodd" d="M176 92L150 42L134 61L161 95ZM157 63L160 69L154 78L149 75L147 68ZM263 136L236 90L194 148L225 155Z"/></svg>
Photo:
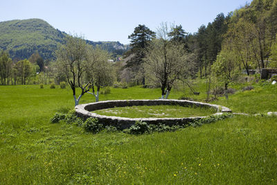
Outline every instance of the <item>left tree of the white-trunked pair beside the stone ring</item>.
<svg viewBox="0 0 277 185"><path fill-rule="evenodd" d="M72 89L75 105L78 105L80 98L89 91L89 85L92 82L92 79L88 80L85 85L82 82L87 69L86 42L78 36L69 36L66 38L66 44L60 46L56 54L57 62L59 62L59 66L61 67L60 70L66 75L67 82L69 82ZM76 98L76 86L82 89L78 98Z"/></svg>

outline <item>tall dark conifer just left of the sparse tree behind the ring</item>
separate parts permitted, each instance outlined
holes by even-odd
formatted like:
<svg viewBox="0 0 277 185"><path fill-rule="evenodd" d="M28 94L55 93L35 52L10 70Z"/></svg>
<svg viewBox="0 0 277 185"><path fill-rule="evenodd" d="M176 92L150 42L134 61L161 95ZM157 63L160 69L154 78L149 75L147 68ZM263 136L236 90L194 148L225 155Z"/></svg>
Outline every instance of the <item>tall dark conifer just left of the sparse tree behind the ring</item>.
<svg viewBox="0 0 277 185"><path fill-rule="evenodd" d="M131 39L130 46L132 49L127 55L132 55L130 60L127 61L127 67L130 67L134 73L142 71L143 59L145 58L145 49L149 46L151 40L155 37L155 33L145 25L139 24L134 28L134 33L128 36ZM145 84L144 75L142 77L143 85Z"/></svg>

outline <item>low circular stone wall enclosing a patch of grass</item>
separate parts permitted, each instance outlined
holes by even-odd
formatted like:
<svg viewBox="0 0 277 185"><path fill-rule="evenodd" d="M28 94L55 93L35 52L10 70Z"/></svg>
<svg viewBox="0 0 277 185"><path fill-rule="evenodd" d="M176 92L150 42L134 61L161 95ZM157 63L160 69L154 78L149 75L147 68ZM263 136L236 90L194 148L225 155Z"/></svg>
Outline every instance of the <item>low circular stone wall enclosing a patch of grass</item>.
<svg viewBox="0 0 277 185"><path fill-rule="evenodd" d="M98 109L109 109L114 107L132 107L139 105L179 105L183 107L211 107L217 111L217 114L224 112L231 112L231 109L220 105L213 105L209 103L200 103L190 100L108 100L96 103L80 104L75 106L75 112L79 117L87 119L89 117L98 118L99 123L103 125L112 125L120 130L134 125L136 121L143 121L150 124L165 124L165 125L184 125L193 120L205 118L206 116L187 117L187 118L123 118L117 116L102 116L92 111Z"/></svg>

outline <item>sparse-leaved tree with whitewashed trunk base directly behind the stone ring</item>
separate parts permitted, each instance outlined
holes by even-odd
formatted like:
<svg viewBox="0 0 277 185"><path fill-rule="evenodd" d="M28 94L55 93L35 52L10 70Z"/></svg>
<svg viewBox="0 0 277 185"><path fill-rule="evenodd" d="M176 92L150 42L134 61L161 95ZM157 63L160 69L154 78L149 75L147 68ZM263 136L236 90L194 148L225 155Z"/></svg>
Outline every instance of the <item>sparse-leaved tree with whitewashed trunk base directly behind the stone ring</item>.
<svg viewBox="0 0 277 185"><path fill-rule="evenodd" d="M188 70L184 44L170 42L168 26L161 24L157 39L148 47L144 69L147 80L161 87L161 99L168 98L176 80Z"/></svg>

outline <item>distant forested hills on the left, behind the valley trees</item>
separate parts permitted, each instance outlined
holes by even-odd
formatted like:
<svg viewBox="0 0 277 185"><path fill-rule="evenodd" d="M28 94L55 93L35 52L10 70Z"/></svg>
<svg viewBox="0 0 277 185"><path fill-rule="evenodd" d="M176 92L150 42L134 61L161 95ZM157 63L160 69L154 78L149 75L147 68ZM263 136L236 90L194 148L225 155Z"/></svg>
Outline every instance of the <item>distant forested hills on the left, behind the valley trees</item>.
<svg viewBox="0 0 277 185"><path fill-rule="evenodd" d="M53 28L42 19L25 19L0 22L0 49L8 50L10 58L23 60L37 52L44 60L55 60L57 44L64 43L66 33ZM120 42L92 42L114 55L122 55L126 46Z"/></svg>

